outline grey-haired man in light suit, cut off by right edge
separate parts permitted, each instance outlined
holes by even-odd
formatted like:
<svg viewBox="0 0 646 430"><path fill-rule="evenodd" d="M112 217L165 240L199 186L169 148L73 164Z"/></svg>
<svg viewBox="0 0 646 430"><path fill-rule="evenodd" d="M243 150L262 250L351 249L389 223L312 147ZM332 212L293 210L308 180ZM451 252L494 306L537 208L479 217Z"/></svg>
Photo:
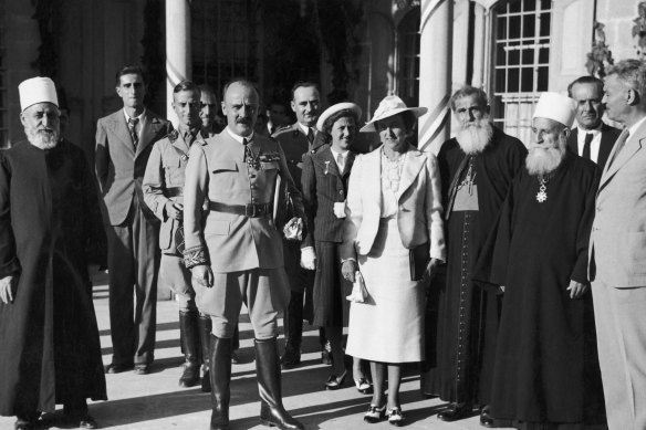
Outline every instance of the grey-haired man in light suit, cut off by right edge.
<svg viewBox="0 0 646 430"><path fill-rule="evenodd" d="M618 62L604 93L625 129L596 195L590 279L608 427L636 430L646 429L646 65Z"/></svg>

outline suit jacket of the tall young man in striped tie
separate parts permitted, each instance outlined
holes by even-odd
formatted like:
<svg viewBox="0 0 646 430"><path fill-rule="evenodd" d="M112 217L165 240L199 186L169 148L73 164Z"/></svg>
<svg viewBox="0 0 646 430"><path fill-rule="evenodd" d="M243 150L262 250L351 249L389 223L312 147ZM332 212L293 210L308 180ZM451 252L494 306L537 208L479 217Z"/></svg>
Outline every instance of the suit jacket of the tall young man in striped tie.
<svg viewBox="0 0 646 430"><path fill-rule="evenodd" d="M142 180L153 144L170 133L173 126L150 111L146 111L145 115L136 150L123 109L98 119L96 124L96 178L104 202L105 221L112 226L125 221L134 198L139 199L146 217L155 219L144 202Z"/></svg>

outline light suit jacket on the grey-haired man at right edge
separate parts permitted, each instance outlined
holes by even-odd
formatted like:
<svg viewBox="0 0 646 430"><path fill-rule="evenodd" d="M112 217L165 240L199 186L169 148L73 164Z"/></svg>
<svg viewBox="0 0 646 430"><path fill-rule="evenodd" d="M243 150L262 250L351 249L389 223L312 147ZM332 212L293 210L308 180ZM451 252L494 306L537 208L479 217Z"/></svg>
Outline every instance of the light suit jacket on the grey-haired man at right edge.
<svg viewBox="0 0 646 430"><path fill-rule="evenodd" d="M645 147L643 124L603 170L588 247L591 281L619 289L646 285Z"/></svg>

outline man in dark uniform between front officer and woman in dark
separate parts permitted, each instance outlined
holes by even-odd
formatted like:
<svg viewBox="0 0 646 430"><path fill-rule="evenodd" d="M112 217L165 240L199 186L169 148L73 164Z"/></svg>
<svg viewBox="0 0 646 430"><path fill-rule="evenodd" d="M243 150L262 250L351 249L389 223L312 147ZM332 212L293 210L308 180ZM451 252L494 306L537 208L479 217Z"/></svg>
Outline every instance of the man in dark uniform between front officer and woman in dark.
<svg viewBox="0 0 646 430"><path fill-rule="evenodd" d="M292 109L296 114L296 122L289 127L279 129L272 136L281 146L288 160L290 174L299 189L301 188L301 170L303 158L319 149L315 141L316 120L321 113L320 95L316 84L312 82L296 82L292 88ZM302 191L302 190L301 190ZM282 204L281 204L282 207ZM314 285L314 272L301 268L301 244L295 241L283 240L285 272L290 279L291 300L284 315L285 352L281 357L283 369L291 369L301 363L301 339L303 337L303 307L305 291L311 297ZM310 300L306 307L311 307ZM311 314L306 312L306 314ZM305 317L309 317L305 315ZM311 317L311 316L310 316ZM322 345L324 336L320 332ZM329 353L323 348L324 361L329 364Z"/></svg>

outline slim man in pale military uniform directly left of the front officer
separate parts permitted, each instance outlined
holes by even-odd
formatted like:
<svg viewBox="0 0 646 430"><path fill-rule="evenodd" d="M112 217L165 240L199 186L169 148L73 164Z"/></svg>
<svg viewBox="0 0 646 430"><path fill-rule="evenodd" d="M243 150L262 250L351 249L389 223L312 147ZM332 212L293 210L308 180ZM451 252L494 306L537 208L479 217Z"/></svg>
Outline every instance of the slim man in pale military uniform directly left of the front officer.
<svg viewBox="0 0 646 430"><path fill-rule="evenodd" d="M159 220L162 263L159 281L165 282L179 300L179 331L181 349L186 357L179 386L192 387L199 379L200 337L205 357L202 391L209 391L208 342L211 319L199 316L195 292L190 286L190 271L184 266L181 229L184 209L184 178L188 151L196 140L208 135L200 130L200 91L189 81L180 82L173 91L173 109L179 125L165 138L157 140L144 176L144 201ZM179 232L181 233L181 232ZM199 327L199 328L198 328Z"/></svg>

